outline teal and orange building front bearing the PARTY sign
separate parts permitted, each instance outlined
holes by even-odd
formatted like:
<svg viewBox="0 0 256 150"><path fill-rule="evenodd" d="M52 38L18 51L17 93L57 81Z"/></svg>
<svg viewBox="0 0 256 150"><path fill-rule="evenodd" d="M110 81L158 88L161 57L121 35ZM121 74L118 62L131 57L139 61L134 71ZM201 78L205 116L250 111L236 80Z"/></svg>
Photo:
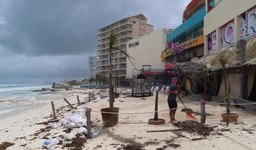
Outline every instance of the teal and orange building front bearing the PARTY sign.
<svg viewBox="0 0 256 150"><path fill-rule="evenodd" d="M209 2L213 5L214 0ZM164 67L166 73L172 72L177 63L204 56L204 16L205 0L192 0L184 10L183 23L176 29L170 29L167 35L168 47L161 52L161 59L166 64ZM186 89L187 80L184 76L179 79L169 77L170 79L166 79L166 84L175 84L177 80L182 80ZM190 91L190 86L188 88Z"/></svg>

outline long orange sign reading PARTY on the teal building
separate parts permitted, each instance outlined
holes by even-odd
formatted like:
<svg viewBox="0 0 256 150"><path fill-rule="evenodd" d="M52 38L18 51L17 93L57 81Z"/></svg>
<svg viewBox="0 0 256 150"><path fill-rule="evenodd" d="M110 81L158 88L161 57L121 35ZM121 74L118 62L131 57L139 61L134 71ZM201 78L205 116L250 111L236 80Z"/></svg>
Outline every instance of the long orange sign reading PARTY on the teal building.
<svg viewBox="0 0 256 150"><path fill-rule="evenodd" d="M166 59L166 57L174 54L174 52L182 52L183 50L186 50L191 47L195 47L196 45L201 45L203 43L204 43L204 36L200 36L198 38L185 41L181 44L179 44L179 42L176 42L176 43L170 42L169 43L170 49L163 52L163 54L161 55L161 58L164 60Z"/></svg>

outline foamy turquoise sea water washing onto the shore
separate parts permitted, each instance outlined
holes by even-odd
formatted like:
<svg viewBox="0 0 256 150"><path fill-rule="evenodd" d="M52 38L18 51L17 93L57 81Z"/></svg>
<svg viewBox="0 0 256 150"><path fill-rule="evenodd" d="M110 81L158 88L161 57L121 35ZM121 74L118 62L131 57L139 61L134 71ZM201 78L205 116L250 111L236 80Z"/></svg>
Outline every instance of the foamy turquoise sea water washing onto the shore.
<svg viewBox="0 0 256 150"><path fill-rule="evenodd" d="M35 105L33 101L49 100L52 84L0 84L0 114ZM36 92L35 92L36 91Z"/></svg>

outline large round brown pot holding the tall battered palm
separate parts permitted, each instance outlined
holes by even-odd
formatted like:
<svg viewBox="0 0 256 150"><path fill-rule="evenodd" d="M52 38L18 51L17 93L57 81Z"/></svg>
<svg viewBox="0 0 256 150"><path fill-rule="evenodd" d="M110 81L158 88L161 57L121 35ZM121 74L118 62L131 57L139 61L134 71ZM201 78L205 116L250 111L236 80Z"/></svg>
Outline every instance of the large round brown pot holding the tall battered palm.
<svg viewBox="0 0 256 150"><path fill-rule="evenodd" d="M118 124L118 112L119 112L118 107L114 107L114 109L109 109L109 108L100 109L100 112L101 112L104 126L108 127L108 126L115 126L116 124ZM104 113L104 112L111 112L111 114ZM113 112L115 112L115 114L112 114Z"/></svg>

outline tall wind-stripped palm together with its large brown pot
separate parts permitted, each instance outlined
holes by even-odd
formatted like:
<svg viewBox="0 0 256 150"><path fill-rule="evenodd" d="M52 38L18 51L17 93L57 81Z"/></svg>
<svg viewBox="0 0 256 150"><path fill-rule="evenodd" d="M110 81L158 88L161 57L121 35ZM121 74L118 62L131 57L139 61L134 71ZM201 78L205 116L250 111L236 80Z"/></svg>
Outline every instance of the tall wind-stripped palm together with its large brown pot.
<svg viewBox="0 0 256 150"><path fill-rule="evenodd" d="M114 96L114 86L112 81L112 63L111 63L111 50L116 49L124 53L127 58L131 58L124 50L118 49L115 45L118 44L117 38L119 37L116 31L111 31L109 33L109 108L101 109L102 121L104 126L115 126L118 124L118 112L119 108L114 107L115 96ZM130 60L130 59L129 59ZM131 61L131 60L130 60ZM104 113L107 112L107 113ZM111 112L111 113L108 113Z"/></svg>

